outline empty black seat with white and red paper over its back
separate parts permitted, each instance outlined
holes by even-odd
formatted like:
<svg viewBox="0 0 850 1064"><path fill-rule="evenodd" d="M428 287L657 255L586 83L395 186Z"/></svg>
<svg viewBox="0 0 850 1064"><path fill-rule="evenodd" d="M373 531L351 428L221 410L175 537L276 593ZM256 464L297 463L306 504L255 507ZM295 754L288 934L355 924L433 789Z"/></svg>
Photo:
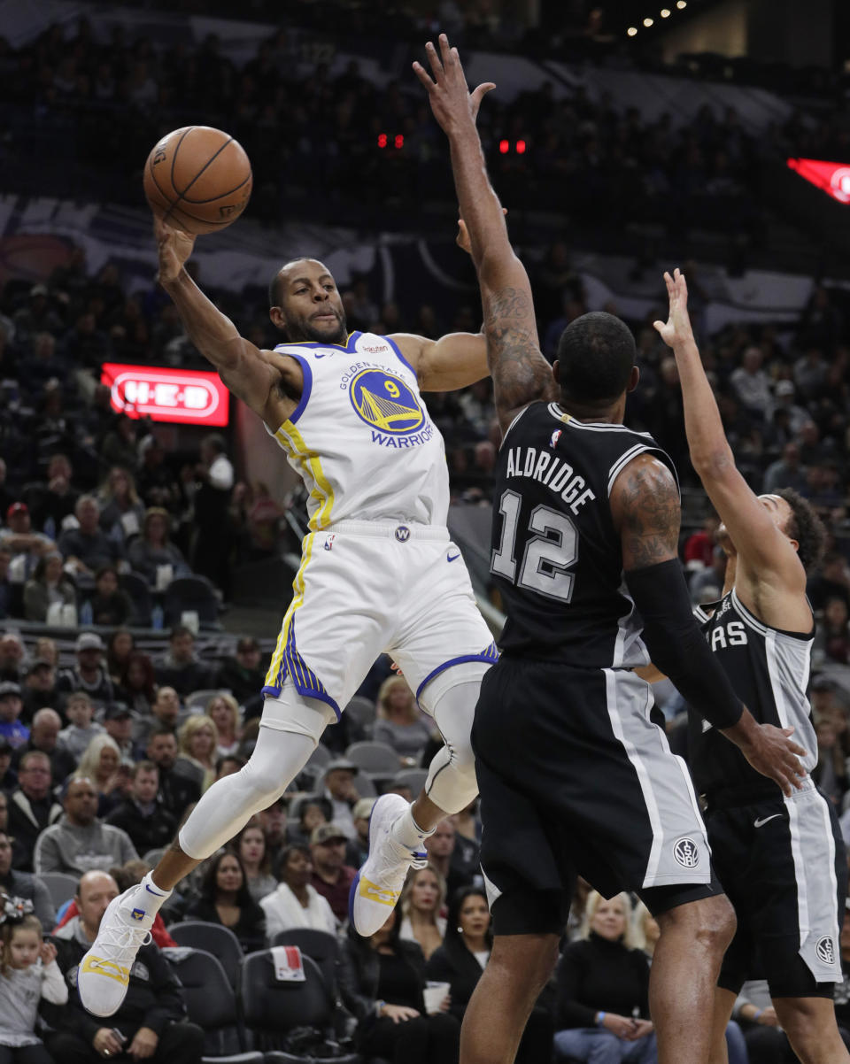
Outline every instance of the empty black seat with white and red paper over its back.
<svg viewBox="0 0 850 1064"><path fill-rule="evenodd" d="M333 1008L328 997L324 979L313 958L301 954L305 979L303 982L280 982L274 976L271 950L249 953L241 965L239 998L246 1027L254 1032L259 1047L266 1054L266 1064L295 1064L319 1059L311 1048L326 1048L332 1043ZM313 1028L317 1038L309 1037L296 1050L287 1047L287 1034L296 1028L299 1033ZM326 1047L316 1041L326 1040ZM331 1053L321 1053L327 1058ZM360 1064L357 1053L333 1053L336 1064Z"/></svg>

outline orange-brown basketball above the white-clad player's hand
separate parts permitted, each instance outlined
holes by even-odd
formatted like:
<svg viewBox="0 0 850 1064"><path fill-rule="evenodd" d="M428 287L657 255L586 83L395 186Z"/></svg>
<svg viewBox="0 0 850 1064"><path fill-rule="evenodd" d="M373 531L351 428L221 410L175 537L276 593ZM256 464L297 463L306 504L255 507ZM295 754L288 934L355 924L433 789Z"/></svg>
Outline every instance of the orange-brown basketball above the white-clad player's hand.
<svg viewBox="0 0 850 1064"><path fill-rule="evenodd" d="M235 221L251 196L241 145L210 126L168 133L145 164L145 197L163 221L186 233L215 233Z"/></svg>

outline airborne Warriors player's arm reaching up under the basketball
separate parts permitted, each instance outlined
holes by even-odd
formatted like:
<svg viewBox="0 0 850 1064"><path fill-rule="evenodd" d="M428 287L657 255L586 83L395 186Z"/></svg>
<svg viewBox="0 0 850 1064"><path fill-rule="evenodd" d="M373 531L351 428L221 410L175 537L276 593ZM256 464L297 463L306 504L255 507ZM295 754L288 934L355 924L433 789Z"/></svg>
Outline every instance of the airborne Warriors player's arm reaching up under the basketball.
<svg viewBox="0 0 850 1064"><path fill-rule="evenodd" d="M239 335L236 326L189 277L185 263L195 237L159 218L154 218L153 232L160 254L160 284L173 300L189 339L212 362L227 387L254 413L266 417L269 396L281 371Z"/></svg>

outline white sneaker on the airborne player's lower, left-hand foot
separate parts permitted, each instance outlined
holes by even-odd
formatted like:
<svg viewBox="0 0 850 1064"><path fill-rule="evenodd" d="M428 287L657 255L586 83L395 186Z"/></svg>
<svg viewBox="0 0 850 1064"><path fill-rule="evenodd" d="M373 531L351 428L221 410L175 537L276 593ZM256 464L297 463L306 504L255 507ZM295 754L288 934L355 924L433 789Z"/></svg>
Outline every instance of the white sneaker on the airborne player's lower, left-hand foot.
<svg viewBox="0 0 850 1064"><path fill-rule="evenodd" d="M94 1016L112 1016L121 1007L130 969L140 947L150 942L157 909L146 904L144 883L110 902L97 938L77 970L80 1000Z"/></svg>

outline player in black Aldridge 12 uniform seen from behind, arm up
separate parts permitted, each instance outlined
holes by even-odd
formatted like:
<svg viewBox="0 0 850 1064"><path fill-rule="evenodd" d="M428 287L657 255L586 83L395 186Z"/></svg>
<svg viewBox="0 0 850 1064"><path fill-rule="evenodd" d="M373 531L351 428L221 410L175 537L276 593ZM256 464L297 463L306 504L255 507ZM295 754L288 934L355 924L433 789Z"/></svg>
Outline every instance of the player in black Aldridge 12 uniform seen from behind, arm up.
<svg viewBox="0 0 850 1064"><path fill-rule="evenodd" d="M631 333L612 315L584 315L561 339L553 379L476 130L474 98L493 86L467 95L445 36L440 55L431 45L428 55L433 80L414 68L449 138L504 434L491 571L507 622L472 730L496 937L461 1061L514 1060L581 874L609 897L636 890L656 916L659 1059L703 1064L734 915L712 874L687 770L650 721L651 689L634 668L649 650L662 655L685 696L788 794L803 751L754 721L690 613L670 460L621 423L638 376ZM624 1033L618 1020L598 1017Z"/></svg>

